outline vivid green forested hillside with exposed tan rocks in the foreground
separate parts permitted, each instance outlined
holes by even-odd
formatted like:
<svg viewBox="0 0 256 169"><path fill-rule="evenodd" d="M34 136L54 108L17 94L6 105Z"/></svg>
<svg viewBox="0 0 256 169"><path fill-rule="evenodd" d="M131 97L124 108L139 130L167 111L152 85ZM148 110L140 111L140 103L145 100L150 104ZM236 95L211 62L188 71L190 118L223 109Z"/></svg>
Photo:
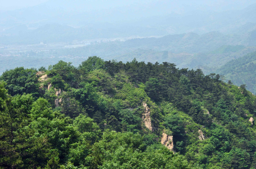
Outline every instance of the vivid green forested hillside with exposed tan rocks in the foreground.
<svg viewBox="0 0 256 169"><path fill-rule="evenodd" d="M222 80L96 56L6 70L0 168L256 168L256 97Z"/></svg>

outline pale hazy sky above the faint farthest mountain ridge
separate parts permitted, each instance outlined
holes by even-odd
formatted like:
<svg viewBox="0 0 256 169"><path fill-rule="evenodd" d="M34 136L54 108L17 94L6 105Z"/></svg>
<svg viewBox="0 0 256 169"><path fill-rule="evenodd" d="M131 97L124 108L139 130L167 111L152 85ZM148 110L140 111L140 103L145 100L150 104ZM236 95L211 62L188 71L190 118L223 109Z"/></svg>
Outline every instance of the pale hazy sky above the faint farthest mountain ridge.
<svg viewBox="0 0 256 169"><path fill-rule="evenodd" d="M1 11L15 10L23 7L38 5L46 1L49 1L49 0L22 0L22 1L21 0L0 0L0 10ZM67 0L62 0L63 3L65 3L65 1ZM89 0L84 0L85 3L86 1L89 1ZM149 0L149 1L158 1L158 0ZM178 0L160 0L160 1L165 1L167 3L175 4ZM95 0L95 2L97 2L97 0ZM108 4L109 2L111 2L111 0L106 0L104 2L105 4ZM122 5L122 3L120 2L124 2L124 5L126 5L129 1L120 0L116 2L118 2L118 6L119 6L119 5ZM137 2L141 2L141 1L137 1ZM214 11L225 11L225 10L243 9L244 7L250 4L256 3L256 0L214 0L214 1L213 0L179 0L179 4L181 4L181 2L183 6L193 6L199 10L203 10L205 7L206 10L212 9Z"/></svg>

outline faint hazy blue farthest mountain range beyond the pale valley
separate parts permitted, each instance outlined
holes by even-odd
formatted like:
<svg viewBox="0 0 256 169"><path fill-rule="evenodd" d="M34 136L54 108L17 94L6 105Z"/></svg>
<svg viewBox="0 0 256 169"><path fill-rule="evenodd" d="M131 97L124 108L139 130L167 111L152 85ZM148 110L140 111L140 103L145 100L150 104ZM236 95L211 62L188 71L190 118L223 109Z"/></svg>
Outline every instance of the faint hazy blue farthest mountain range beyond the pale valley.
<svg viewBox="0 0 256 169"><path fill-rule="evenodd" d="M108 4L114 7L104 9L104 6L98 6L98 10L93 7L95 2L88 1L84 9L80 7L76 11L72 9L76 9L79 4L82 6L82 1L61 2L48 1L26 9L0 13L1 44L35 44L41 41L55 43L189 32L204 34L211 31L250 34L256 30L256 3L243 10L190 11L177 14L167 12L168 7L174 7L168 6L165 1L159 1L159 4L142 1L135 6L135 1L127 1L126 6L118 6L119 3ZM165 5L167 7L161 12L161 7ZM71 10L68 10L68 6L71 6Z"/></svg>

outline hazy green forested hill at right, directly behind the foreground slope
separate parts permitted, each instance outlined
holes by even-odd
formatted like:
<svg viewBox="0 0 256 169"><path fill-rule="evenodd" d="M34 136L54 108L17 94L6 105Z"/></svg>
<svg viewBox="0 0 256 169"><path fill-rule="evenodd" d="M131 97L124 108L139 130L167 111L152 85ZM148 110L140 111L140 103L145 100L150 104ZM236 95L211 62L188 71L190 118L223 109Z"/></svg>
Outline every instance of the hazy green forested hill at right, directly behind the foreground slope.
<svg viewBox="0 0 256 169"><path fill-rule="evenodd" d="M256 94L256 52L229 61L217 72L234 84L246 84L247 89Z"/></svg>

